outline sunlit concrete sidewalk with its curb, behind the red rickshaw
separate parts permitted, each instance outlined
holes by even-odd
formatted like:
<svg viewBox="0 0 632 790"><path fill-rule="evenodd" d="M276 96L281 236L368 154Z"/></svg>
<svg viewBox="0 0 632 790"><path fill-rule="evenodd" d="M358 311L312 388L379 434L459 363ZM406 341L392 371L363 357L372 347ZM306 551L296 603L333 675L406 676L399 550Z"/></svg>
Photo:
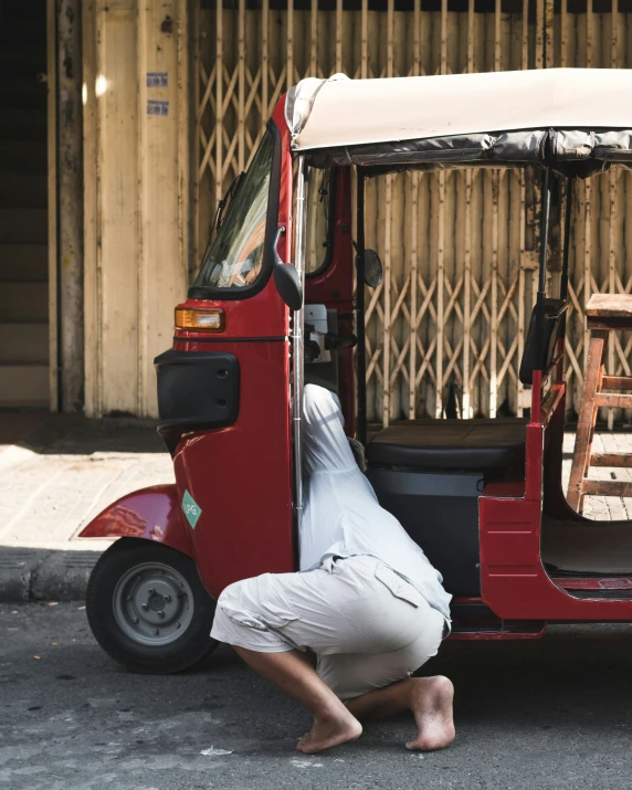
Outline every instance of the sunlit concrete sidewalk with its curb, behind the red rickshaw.
<svg viewBox="0 0 632 790"><path fill-rule="evenodd" d="M568 484L575 435L565 436ZM600 433L596 452L632 452L632 434ZM593 477L632 480L632 470ZM171 483L171 459L149 421L0 412L0 602L81 600L110 541L77 538L104 507ZM586 515L632 519L632 499L587 497Z"/></svg>

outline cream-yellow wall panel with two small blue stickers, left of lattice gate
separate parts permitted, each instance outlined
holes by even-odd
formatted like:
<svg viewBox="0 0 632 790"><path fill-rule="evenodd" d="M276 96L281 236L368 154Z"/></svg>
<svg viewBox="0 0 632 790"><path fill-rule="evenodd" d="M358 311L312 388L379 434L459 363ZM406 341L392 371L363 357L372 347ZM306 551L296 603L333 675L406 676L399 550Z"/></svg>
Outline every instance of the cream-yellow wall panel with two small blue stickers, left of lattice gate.
<svg viewBox="0 0 632 790"><path fill-rule="evenodd" d="M189 273L187 2L86 0L82 15L85 410L154 417Z"/></svg>

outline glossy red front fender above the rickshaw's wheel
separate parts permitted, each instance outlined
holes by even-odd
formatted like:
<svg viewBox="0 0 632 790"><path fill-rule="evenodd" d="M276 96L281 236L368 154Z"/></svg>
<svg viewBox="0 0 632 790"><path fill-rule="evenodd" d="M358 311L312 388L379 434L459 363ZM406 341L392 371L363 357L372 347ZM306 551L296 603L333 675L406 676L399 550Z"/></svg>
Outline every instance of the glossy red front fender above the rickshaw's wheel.
<svg viewBox="0 0 632 790"><path fill-rule="evenodd" d="M192 557L176 485L152 485L122 497L80 534L80 538L119 537L155 540Z"/></svg>

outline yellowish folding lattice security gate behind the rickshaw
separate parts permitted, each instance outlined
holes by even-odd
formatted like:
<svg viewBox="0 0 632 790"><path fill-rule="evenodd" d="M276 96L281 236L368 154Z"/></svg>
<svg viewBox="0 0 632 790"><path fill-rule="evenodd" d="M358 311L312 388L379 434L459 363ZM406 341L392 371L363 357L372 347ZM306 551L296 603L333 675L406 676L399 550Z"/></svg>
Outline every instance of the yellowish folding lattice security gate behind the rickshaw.
<svg viewBox="0 0 632 790"><path fill-rule="evenodd" d="M612 0L382 0L334 10L208 8L193 19L196 260L217 201L247 166L276 101L304 76L445 74L551 66L632 65L632 8ZM623 97L622 97L622 101ZM367 244L385 282L367 294L369 420L441 417L447 393L464 417L522 414L517 378L536 291L539 177L508 170L402 173L371 180ZM630 173L582 182L572 207L569 410L586 355L583 306L596 291L632 292ZM554 220L555 220L554 207ZM557 228L563 220L557 215ZM315 249L313 246L313 249ZM631 247L632 249L632 247ZM554 289L559 230L551 239ZM630 375L632 340L617 338L610 370Z"/></svg>

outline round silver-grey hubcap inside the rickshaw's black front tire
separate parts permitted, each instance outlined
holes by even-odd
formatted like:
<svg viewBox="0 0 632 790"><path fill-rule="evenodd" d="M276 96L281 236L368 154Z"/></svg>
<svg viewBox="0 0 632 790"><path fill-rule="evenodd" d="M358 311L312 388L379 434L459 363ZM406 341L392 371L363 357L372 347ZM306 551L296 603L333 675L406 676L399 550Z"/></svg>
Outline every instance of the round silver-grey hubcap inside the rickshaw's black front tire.
<svg viewBox="0 0 632 790"><path fill-rule="evenodd" d="M161 562L137 565L114 590L114 618L139 644L170 644L189 628L193 593L185 577Z"/></svg>

